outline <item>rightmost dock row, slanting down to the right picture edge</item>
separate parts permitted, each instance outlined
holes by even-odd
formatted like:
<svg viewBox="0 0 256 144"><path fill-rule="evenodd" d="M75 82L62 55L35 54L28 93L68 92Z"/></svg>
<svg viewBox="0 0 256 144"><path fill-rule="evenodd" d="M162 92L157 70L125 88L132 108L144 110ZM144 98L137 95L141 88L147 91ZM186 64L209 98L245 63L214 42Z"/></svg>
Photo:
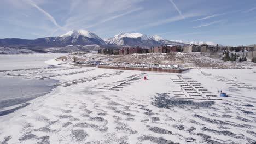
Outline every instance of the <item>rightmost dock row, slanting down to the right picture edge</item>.
<svg viewBox="0 0 256 144"><path fill-rule="evenodd" d="M202 72L203 75L205 75L206 77L212 79L212 80L217 80L223 83L226 83L227 85L231 85L233 87L237 87L237 88L248 88L248 89L255 89L256 87L252 87L252 85L246 84L246 83L242 83L239 81L235 81L229 78L226 78L224 76L218 76L218 75L211 75L211 74L207 74Z"/></svg>

